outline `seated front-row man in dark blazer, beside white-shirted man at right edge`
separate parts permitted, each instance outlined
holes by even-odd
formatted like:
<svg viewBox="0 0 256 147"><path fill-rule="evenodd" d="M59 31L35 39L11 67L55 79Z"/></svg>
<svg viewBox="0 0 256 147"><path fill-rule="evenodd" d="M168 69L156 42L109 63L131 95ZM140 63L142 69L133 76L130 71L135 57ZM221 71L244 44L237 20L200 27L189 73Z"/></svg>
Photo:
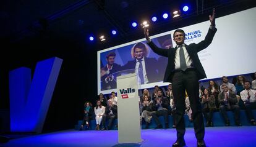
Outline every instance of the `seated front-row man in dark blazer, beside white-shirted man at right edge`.
<svg viewBox="0 0 256 147"><path fill-rule="evenodd" d="M241 126L240 123L240 108L237 105L236 93L229 91L226 84L222 85L223 92L218 96L218 102L220 103L220 113L224 118L225 125L229 126L227 110L234 111L235 122L237 126Z"/></svg>

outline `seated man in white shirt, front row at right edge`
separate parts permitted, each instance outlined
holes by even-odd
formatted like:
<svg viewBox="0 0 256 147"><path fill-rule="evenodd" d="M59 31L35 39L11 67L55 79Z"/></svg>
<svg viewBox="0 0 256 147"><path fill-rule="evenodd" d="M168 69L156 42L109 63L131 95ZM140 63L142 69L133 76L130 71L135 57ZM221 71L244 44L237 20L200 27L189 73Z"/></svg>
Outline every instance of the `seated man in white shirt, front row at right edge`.
<svg viewBox="0 0 256 147"><path fill-rule="evenodd" d="M250 89L250 82L244 82L244 90L240 93L242 101L244 101L245 111L252 125L256 125L252 109L256 109L256 90Z"/></svg>

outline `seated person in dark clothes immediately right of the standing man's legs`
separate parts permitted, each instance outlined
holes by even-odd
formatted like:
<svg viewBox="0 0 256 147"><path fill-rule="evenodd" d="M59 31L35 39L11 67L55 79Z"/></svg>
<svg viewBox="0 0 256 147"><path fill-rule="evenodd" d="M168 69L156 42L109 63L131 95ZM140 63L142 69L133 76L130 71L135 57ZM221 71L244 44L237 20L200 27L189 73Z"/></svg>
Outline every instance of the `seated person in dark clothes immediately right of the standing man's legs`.
<svg viewBox="0 0 256 147"><path fill-rule="evenodd" d="M214 95L209 95L209 90L205 89L202 95L202 112L203 116L207 120L206 127L213 127L213 112L216 110L216 103ZM208 114L209 113L209 114Z"/></svg>

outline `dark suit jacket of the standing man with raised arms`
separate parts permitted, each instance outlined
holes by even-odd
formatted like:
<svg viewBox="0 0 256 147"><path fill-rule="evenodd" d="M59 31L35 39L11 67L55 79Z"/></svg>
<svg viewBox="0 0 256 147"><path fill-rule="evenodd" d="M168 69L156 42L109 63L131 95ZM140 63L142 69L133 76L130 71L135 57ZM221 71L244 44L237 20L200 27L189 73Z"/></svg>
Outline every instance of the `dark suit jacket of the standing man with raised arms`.
<svg viewBox="0 0 256 147"><path fill-rule="evenodd" d="M192 44L189 44L189 46L185 44L187 53L189 54L189 57L192 59L193 66L197 71L198 79L203 79L207 76L205 74L205 71L203 70L203 66L198 58L197 53L207 48L211 44L211 41L213 40L213 36L215 35L216 31L217 31L216 28L209 29L207 36L205 36L205 40L199 42L198 44L192 43ZM163 82L172 82L173 74L175 70L174 59L175 59L177 47L175 48L171 47L169 49L161 49L157 47L152 41L148 43L148 46L150 46L153 52L155 52L156 54L164 57L168 57L168 65L166 66Z"/></svg>

